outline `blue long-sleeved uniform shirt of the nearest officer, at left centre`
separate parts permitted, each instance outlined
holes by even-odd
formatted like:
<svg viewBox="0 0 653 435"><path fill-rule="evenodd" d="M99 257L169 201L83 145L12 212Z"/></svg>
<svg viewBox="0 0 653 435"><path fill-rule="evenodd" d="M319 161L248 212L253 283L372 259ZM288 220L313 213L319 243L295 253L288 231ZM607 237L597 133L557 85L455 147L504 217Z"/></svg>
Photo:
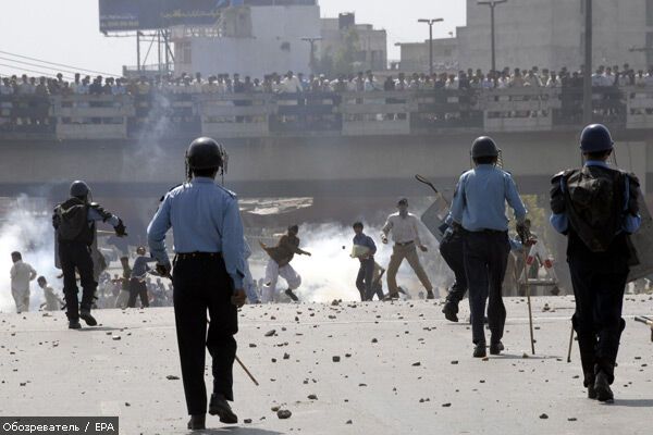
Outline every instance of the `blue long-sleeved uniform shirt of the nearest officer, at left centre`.
<svg viewBox="0 0 653 435"><path fill-rule="evenodd" d="M147 228L150 251L161 264L170 264L165 251L170 227L175 252L222 252L234 288L243 288L245 238L234 194L208 177L195 177L169 191Z"/></svg>

